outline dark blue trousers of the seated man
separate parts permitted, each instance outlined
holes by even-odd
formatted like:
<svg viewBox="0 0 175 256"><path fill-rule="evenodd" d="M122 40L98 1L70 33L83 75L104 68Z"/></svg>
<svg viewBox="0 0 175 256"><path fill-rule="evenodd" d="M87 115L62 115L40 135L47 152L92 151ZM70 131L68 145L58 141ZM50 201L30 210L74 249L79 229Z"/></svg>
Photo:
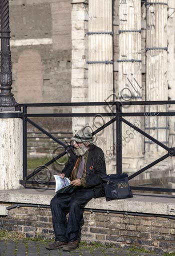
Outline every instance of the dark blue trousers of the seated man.
<svg viewBox="0 0 175 256"><path fill-rule="evenodd" d="M56 193L50 201L52 223L57 241L74 241L79 238L82 207L94 196L90 188L77 188L72 193ZM68 221L66 213L69 211Z"/></svg>

